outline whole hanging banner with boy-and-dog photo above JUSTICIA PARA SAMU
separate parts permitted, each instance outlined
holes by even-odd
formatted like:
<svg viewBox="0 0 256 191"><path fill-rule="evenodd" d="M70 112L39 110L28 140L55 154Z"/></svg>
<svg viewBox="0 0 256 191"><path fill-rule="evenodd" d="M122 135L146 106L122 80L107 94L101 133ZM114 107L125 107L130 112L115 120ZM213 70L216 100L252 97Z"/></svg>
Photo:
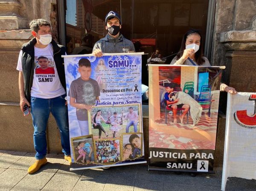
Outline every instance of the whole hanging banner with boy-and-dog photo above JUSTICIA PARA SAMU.
<svg viewBox="0 0 256 191"><path fill-rule="evenodd" d="M148 68L149 170L213 172L220 68Z"/></svg>

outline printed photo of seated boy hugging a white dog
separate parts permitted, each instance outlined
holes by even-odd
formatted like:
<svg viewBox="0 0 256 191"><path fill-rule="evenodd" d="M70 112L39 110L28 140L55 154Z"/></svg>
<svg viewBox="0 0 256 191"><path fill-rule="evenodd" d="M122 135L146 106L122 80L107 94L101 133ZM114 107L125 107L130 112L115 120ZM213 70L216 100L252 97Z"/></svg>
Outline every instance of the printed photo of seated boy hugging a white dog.
<svg viewBox="0 0 256 191"><path fill-rule="evenodd" d="M154 113L150 147L214 149L220 93L218 71L184 66L159 67L158 72L159 82L154 90L159 89L160 112Z"/></svg>

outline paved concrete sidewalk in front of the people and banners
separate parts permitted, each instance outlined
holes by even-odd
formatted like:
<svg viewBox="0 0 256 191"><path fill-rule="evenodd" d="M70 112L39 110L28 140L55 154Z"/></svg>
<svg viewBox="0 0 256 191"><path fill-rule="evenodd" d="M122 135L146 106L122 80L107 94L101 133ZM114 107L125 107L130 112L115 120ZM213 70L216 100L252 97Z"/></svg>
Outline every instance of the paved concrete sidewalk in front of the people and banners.
<svg viewBox="0 0 256 191"><path fill-rule="evenodd" d="M190 177L166 171L147 171L147 165L69 171L63 154L48 154L48 163L27 174L34 153L0 151L0 191L219 191L221 168L215 174ZM256 180L230 178L227 191L255 191Z"/></svg>

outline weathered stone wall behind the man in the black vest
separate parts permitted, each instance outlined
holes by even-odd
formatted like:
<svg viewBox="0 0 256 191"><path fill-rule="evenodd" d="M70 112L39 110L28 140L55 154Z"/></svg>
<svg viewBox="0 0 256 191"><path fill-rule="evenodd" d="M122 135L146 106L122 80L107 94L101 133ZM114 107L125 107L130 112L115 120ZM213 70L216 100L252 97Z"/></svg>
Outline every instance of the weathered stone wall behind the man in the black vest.
<svg viewBox="0 0 256 191"><path fill-rule="evenodd" d="M34 152L32 118L24 117L19 106L17 60L23 43L32 38L31 20L47 19L52 23L53 38L57 36L55 9L56 0L0 0L0 150ZM61 152L52 116L48 126L48 151Z"/></svg>

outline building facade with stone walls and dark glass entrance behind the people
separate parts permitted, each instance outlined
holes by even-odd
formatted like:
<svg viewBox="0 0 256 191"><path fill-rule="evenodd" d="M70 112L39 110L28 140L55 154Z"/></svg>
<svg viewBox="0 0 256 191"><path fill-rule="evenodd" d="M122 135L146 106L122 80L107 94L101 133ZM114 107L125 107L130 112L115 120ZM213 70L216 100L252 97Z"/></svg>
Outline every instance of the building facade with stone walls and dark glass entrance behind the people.
<svg viewBox="0 0 256 191"><path fill-rule="evenodd" d="M149 55L160 48L166 63L178 52L182 35L190 28L200 29L204 53L212 66L226 66L222 81L237 91L256 92L255 0L0 0L0 150L34 151L31 117L23 117L19 107L16 70L20 48L32 38L30 20L49 20L53 38L70 53L81 46L87 33L92 34L93 42L105 36L104 18L110 10L121 14L125 37L140 41L140 51ZM141 39L154 39L154 43ZM226 93L222 93L223 113L225 100ZM146 118L143 124L147 131ZM224 131L223 115L218 123L216 165L222 165ZM145 133L145 143L147 139ZM59 140L50 116L48 151L61 151Z"/></svg>

